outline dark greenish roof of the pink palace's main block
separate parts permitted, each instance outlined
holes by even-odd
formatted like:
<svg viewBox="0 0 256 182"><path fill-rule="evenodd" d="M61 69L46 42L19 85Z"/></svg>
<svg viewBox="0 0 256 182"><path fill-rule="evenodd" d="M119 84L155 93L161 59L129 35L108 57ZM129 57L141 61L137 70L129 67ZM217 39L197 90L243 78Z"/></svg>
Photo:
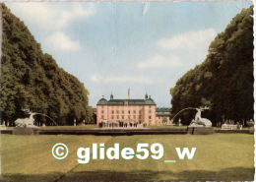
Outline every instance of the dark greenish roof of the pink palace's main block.
<svg viewBox="0 0 256 182"><path fill-rule="evenodd" d="M157 105L151 97L145 99L113 99L100 98L97 105Z"/></svg>

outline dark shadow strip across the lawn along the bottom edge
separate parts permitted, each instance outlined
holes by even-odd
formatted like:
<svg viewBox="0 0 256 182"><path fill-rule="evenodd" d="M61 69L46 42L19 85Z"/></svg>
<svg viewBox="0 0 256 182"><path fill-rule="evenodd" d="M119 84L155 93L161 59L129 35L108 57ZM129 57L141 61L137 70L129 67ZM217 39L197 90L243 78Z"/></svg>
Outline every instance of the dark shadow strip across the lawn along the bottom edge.
<svg viewBox="0 0 256 182"><path fill-rule="evenodd" d="M124 166L125 167L125 166ZM3 175L0 181L52 181L52 182L83 182L83 181L253 181L254 168L233 167L222 171L191 170L173 173L171 171L138 170L130 172L115 172L108 170L58 172L23 175Z"/></svg>

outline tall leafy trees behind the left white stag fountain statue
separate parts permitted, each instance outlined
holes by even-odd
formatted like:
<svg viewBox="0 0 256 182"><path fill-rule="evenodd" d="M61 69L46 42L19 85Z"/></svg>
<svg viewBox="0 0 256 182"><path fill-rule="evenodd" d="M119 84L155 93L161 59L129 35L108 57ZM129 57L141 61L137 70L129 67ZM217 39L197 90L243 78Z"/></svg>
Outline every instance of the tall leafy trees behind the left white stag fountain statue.
<svg viewBox="0 0 256 182"><path fill-rule="evenodd" d="M59 125L93 122L89 91L41 51L32 33L2 3L1 118L14 122L22 108L47 114ZM46 122L46 118L41 118Z"/></svg>

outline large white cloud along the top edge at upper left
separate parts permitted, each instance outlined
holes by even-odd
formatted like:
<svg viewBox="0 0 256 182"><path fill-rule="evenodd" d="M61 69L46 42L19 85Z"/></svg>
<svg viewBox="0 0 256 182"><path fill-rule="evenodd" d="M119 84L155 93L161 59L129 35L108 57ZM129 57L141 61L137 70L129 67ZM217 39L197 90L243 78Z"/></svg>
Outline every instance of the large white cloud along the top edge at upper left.
<svg viewBox="0 0 256 182"><path fill-rule="evenodd" d="M52 6L50 3L41 2L8 4L17 16L42 30L63 30L73 21L95 15L95 7L92 4L87 5L89 6L85 8L76 3L68 9L63 9Z"/></svg>

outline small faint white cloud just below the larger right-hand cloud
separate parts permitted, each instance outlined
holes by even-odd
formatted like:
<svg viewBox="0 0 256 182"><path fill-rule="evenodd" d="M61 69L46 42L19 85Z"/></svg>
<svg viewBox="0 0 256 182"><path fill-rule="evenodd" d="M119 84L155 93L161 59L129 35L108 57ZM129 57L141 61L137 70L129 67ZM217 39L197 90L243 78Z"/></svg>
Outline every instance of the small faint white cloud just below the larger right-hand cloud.
<svg viewBox="0 0 256 182"><path fill-rule="evenodd" d="M147 68L173 68L182 66L182 63L178 57L164 57L161 55L155 55L145 61L137 63L137 68L147 69Z"/></svg>

